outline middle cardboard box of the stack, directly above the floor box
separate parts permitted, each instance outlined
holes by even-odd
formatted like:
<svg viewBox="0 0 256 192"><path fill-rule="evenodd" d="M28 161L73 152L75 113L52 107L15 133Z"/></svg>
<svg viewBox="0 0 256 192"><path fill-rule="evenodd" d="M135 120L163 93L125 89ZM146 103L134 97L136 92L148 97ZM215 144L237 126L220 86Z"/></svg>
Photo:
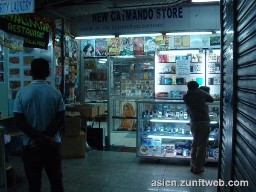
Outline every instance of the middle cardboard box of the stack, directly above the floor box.
<svg viewBox="0 0 256 192"><path fill-rule="evenodd" d="M79 136L81 128L81 114L77 111L66 111L65 135Z"/></svg>

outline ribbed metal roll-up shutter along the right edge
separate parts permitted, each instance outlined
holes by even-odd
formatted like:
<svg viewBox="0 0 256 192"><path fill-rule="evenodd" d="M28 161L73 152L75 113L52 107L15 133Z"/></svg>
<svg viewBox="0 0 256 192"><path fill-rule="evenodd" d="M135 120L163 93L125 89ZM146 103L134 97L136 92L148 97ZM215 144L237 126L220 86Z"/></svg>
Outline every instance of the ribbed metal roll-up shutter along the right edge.
<svg viewBox="0 0 256 192"><path fill-rule="evenodd" d="M256 0L236 2L236 128L234 180L248 180L256 191Z"/></svg>

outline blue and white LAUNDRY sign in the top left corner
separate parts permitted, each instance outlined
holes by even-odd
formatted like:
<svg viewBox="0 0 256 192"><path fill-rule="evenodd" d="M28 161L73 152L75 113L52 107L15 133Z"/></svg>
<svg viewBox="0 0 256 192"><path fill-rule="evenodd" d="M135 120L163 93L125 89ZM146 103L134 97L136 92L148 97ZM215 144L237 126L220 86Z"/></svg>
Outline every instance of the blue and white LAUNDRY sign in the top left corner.
<svg viewBox="0 0 256 192"><path fill-rule="evenodd" d="M0 0L0 15L34 12L35 0Z"/></svg>

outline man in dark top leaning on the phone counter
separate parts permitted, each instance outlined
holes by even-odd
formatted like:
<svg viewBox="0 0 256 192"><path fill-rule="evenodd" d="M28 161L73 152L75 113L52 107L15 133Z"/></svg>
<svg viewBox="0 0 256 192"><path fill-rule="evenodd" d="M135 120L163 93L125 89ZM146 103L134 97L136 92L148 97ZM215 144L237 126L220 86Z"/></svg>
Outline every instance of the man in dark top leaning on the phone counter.
<svg viewBox="0 0 256 192"><path fill-rule="evenodd" d="M188 91L183 96L190 116L190 129L193 136L191 145L191 172L198 174L204 172L206 146L209 140L210 119L205 102L213 102L209 93L198 89L196 81L189 81Z"/></svg>

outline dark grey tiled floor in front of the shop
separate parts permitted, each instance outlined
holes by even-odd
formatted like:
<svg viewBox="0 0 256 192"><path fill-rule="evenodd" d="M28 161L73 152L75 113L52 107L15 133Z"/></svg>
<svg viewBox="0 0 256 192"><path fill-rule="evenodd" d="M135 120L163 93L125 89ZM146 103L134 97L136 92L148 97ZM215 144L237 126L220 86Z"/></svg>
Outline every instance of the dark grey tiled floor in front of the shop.
<svg viewBox="0 0 256 192"><path fill-rule="evenodd" d="M17 192L28 192L28 185L21 157L10 157L17 175L23 182L17 186ZM215 187L167 187L151 186L152 180L198 180L217 178L217 164L205 166L205 172L194 175L187 162L164 161L154 163L149 159L140 159L135 153L116 151L88 152L85 158L62 161L65 192L216 192ZM12 188L8 189L13 191ZM42 176L41 192L50 192L45 172Z"/></svg>

